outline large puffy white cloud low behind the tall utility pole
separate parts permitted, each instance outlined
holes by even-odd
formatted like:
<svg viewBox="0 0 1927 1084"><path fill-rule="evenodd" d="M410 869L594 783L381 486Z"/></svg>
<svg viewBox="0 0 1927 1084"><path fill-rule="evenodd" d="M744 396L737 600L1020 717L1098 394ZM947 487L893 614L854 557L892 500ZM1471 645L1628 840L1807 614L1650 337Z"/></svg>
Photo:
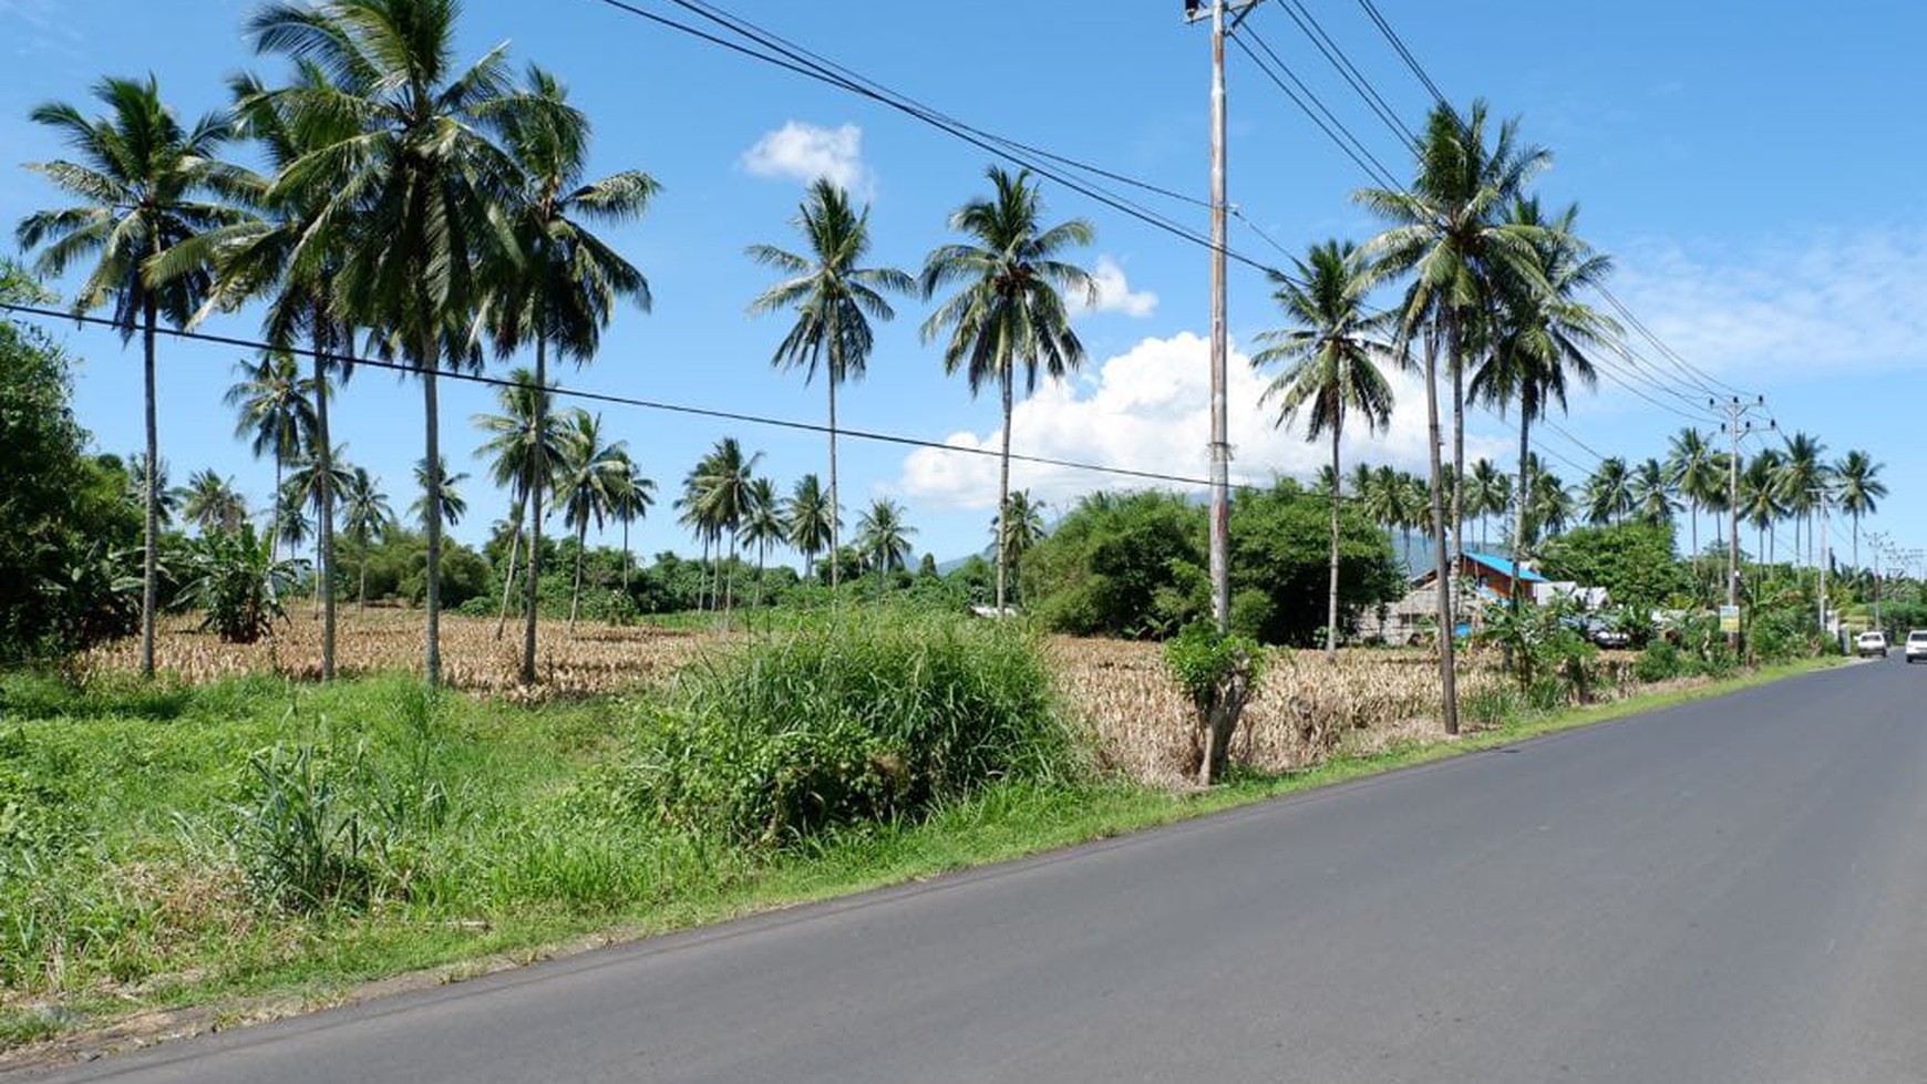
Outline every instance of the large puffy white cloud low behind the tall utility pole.
<svg viewBox="0 0 1927 1084"><path fill-rule="evenodd" d="M1264 375L1249 358L1231 352L1227 397L1231 404L1231 479L1266 483L1287 474L1312 477L1330 462L1326 439L1308 443L1303 424L1274 426L1274 408L1260 408ZM1409 374L1387 374L1397 408L1391 429L1366 435L1351 431L1343 443L1345 470L1355 462L1389 462L1422 470L1426 462L1424 385ZM985 404L994 402L985 399ZM1125 470L1204 477L1210 470L1210 345L1191 333L1145 339L1129 352L1106 360L1089 377L1050 381L1017 404L1012 451L1046 458L1102 464ZM1000 429L985 435L954 433L958 449L996 451ZM1501 456L1503 441L1466 435L1466 458ZM896 489L944 508L996 506L996 456L919 449L904 460ZM1131 479L1085 470L1012 464L1012 485L1031 489L1058 508L1095 489L1145 489L1177 483ZM1201 489L1201 487L1197 487Z"/></svg>

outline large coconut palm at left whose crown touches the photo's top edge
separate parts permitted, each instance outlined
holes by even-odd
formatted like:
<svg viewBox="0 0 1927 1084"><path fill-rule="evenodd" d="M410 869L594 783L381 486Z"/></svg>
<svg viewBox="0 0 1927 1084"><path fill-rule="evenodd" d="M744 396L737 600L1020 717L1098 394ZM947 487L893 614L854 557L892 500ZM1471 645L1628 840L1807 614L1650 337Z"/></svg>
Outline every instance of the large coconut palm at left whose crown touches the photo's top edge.
<svg viewBox="0 0 1927 1084"><path fill-rule="evenodd" d="M287 0L258 8L247 35L260 52L312 62L331 79L274 90L297 129L353 117L353 133L304 150L268 198L328 193L289 252L297 266L339 254L333 310L372 329L383 356L422 381L426 493L441 485L437 374L472 368L472 333L499 270L518 264L503 243L499 208L515 206L522 175L489 139L532 104L515 94L505 46L455 64L459 0ZM441 526L428 526L424 672L441 682Z"/></svg>

